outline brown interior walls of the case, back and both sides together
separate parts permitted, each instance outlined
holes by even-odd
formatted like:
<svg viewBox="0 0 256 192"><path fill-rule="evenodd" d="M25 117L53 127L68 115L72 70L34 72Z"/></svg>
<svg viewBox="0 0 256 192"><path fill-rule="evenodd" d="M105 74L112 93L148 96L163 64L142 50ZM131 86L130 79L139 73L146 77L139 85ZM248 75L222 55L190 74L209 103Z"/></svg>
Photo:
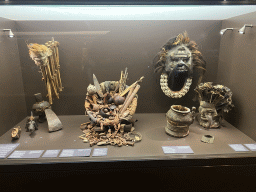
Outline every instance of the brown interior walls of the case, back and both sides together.
<svg viewBox="0 0 256 192"><path fill-rule="evenodd" d="M92 74L100 82L119 80L125 67L129 72L128 84L145 76L139 90L138 113L165 113L173 104L198 107L192 100L196 78L186 96L171 99L162 93L160 74L154 74L152 67L160 47L186 30L207 62L205 81L226 85L233 92L235 108L226 115L227 121L256 139L253 64L256 29L247 28L244 35L237 33L244 24L255 24L255 16L251 13L224 21L10 21L1 18L0 27L15 29L17 39L0 36L3 127L0 134L29 115L35 93L46 96L39 69L29 58L27 44L43 44L52 37L60 42L64 86L60 99L53 104L57 115L84 114L84 98L88 84L93 83ZM221 37L219 31L226 27L236 29Z"/></svg>

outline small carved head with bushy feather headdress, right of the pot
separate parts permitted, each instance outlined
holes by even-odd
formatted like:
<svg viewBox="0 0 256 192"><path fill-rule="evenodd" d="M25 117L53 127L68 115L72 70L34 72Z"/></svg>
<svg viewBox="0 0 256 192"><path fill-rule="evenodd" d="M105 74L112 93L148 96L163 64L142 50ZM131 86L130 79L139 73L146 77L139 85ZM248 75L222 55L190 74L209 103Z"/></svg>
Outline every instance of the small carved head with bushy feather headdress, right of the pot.
<svg viewBox="0 0 256 192"><path fill-rule="evenodd" d="M200 102L197 120L205 128L218 128L224 112L228 112L232 104L232 92L224 85L213 85L212 82L199 84L195 91Z"/></svg>

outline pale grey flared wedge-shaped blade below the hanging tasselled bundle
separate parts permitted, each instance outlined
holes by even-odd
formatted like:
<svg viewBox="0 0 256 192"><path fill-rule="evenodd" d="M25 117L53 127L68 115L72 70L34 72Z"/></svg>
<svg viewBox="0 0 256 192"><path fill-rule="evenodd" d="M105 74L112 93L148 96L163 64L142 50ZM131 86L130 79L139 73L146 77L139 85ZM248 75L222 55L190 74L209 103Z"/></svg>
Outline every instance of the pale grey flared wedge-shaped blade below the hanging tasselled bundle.
<svg viewBox="0 0 256 192"><path fill-rule="evenodd" d="M49 132L58 131L63 128L63 125L60 122L60 119L51 109L45 109L45 115L48 122Z"/></svg>

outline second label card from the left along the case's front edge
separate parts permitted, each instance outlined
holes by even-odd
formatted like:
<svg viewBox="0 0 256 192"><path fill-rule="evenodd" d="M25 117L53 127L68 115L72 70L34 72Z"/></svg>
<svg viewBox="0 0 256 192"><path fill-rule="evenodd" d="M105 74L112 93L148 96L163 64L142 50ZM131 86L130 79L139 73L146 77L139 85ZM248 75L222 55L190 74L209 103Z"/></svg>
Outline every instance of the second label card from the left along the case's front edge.
<svg viewBox="0 0 256 192"><path fill-rule="evenodd" d="M28 159L28 158L39 158L44 150L16 150L8 159Z"/></svg>

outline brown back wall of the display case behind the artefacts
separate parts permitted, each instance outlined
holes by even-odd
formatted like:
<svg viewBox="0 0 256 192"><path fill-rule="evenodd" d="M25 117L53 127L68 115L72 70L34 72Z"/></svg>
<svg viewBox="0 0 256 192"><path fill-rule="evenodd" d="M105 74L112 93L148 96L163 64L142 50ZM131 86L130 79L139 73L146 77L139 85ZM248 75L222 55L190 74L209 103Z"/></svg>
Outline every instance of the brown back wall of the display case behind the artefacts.
<svg viewBox="0 0 256 192"><path fill-rule="evenodd" d="M139 90L138 113L166 113L172 104L198 106L192 101L194 85L181 99L170 99L160 89L160 74L152 61L172 37L187 31L199 45L207 62L207 81L216 81L221 21L16 21L18 45L26 96L27 114L41 92L46 96L41 74L29 58L28 43L44 44L52 37L60 42L60 71L64 91L53 101L57 115L84 114L86 88L99 82L119 80L128 68L127 84L145 76ZM83 34L69 33L83 31ZM196 78L195 78L196 80ZM196 81L194 81L195 83ZM46 99L46 98L45 98Z"/></svg>

